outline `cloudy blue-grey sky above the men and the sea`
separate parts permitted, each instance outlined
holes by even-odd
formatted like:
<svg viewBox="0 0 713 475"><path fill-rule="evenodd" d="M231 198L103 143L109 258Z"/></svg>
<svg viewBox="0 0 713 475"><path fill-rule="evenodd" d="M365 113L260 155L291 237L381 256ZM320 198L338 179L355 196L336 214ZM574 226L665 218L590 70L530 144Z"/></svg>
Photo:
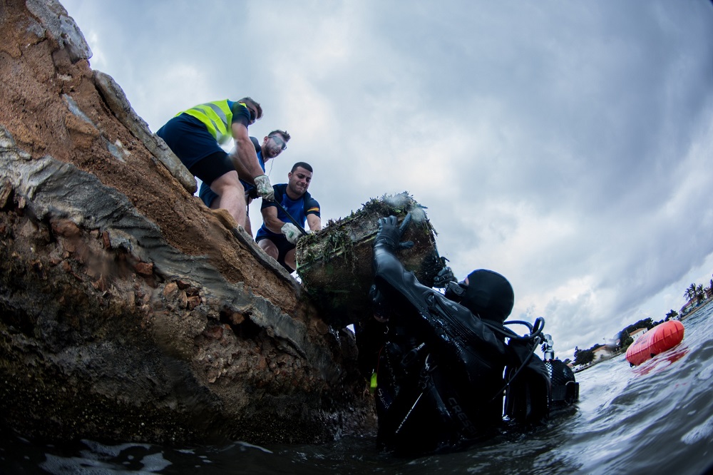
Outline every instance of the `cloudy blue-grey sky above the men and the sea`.
<svg viewBox="0 0 713 475"><path fill-rule="evenodd" d="M561 359L713 277L709 0L61 4L151 131L254 98L250 135L292 136L273 184L310 163L323 224L408 192L456 277L506 276Z"/></svg>

